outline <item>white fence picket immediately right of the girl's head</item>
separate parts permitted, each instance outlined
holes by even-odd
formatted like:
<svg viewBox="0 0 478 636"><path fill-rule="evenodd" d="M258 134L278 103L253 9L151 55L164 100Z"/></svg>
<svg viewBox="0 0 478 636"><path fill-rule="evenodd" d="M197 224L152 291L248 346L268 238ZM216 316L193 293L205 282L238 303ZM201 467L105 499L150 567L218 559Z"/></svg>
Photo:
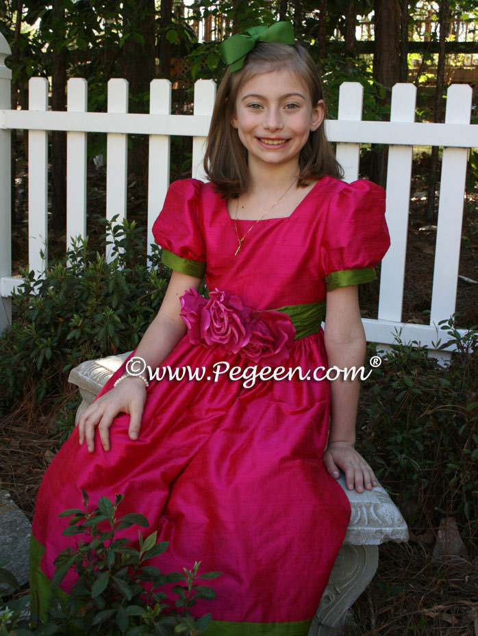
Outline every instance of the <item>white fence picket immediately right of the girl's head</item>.
<svg viewBox="0 0 478 636"><path fill-rule="evenodd" d="M358 81L350 81L340 86L338 94L338 120L360 121L364 87ZM327 133L327 138L330 138ZM344 180L347 183L358 179L360 162L360 144L340 142L337 144L336 159L344 168Z"/></svg>

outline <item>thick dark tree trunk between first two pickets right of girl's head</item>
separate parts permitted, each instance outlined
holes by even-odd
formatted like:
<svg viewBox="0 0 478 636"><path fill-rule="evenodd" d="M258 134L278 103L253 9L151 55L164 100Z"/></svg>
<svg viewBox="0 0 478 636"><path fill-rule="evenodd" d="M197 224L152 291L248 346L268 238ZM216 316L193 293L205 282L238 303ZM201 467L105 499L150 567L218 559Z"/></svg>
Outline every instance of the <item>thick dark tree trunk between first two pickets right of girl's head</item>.
<svg viewBox="0 0 478 636"><path fill-rule="evenodd" d="M392 88L400 77L400 3L399 0L375 0L375 53L373 55L373 77ZM390 103L390 93L381 103ZM372 179L381 186L386 183L387 149L374 152L372 156Z"/></svg>

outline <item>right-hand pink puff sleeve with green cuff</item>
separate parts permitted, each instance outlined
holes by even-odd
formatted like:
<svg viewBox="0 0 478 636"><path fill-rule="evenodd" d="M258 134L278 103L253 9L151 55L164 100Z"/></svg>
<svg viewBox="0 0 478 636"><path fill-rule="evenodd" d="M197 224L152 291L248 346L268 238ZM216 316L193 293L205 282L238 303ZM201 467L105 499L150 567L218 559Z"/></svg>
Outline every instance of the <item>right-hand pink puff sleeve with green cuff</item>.
<svg viewBox="0 0 478 636"><path fill-rule="evenodd" d="M385 190L366 179L344 185L331 199L320 242L327 292L373 281L389 246Z"/></svg>

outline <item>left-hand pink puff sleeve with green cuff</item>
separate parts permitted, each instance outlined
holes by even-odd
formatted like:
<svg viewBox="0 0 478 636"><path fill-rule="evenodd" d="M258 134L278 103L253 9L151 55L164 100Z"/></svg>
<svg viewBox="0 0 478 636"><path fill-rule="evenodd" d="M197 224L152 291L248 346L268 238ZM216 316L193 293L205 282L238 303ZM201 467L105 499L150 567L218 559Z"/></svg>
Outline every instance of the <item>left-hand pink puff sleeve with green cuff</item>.
<svg viewBox="0 0 478 636"><path fill-rule="evenodd" d="M171 183L153 224L153 236L163 249L163 264L197 278L204 276L206 268L205 244L199 228L202 185L198 179Z"/></svg>

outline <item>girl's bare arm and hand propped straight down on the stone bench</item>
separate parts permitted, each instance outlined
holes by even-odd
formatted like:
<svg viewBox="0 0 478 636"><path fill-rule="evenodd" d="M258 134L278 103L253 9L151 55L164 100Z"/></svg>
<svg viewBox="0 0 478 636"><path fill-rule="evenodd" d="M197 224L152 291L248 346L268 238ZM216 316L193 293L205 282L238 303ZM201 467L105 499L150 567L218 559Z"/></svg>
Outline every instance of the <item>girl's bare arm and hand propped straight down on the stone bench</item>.
<svg viewBox="0 0 478 636"><path fill-rule="evenodd" d="M366 340L360 320L357 285L339 287L327 293L324 340L329 368L359 368L364 364ZM344 471L350 490L355 486L357 492L364 492L364 485L371 490L377 481L373 470L354 448L359 392L358 378L344 380L340 376L330 382L331 423L323 462L336 478L339 468Z"/></svg>

